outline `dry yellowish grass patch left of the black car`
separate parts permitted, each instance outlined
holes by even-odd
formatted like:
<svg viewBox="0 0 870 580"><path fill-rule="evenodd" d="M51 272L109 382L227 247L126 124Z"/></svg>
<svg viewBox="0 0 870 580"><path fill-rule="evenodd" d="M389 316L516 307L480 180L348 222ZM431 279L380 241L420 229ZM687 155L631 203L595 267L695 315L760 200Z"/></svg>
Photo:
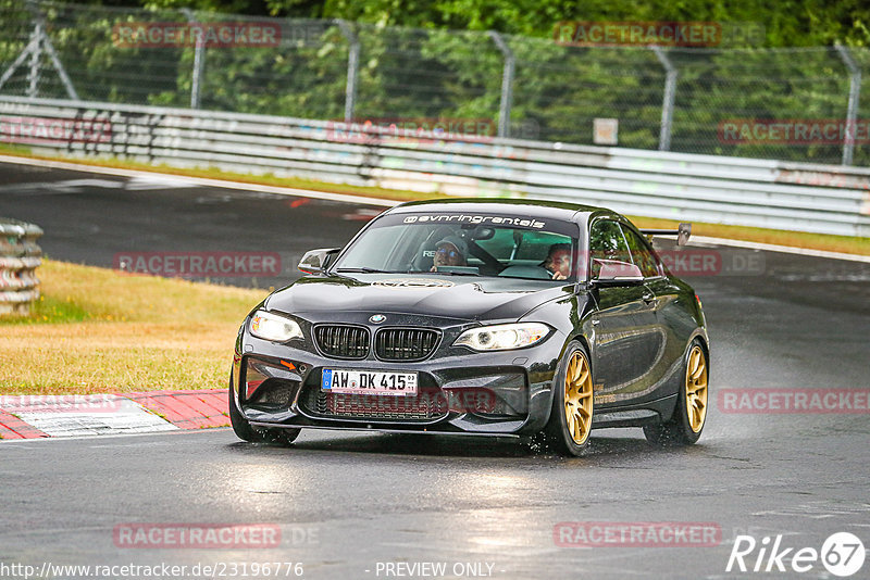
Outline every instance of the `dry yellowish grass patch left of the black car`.
<svg viewBox="0 0 870 580"><path fill-rule="evenodd" d="M214 389L266 295L46 260L30 316L0 318L0 394Z"/></svg>

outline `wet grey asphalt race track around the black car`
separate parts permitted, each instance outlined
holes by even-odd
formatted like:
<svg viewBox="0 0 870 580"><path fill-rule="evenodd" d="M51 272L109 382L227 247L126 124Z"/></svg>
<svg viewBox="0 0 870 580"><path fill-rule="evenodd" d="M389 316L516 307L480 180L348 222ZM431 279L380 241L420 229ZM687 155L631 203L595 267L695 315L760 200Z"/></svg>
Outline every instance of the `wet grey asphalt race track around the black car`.
<svg viewBox="0 0 870 580"><path fill-rule="evenodd" d="M50 257L107 267L119 252L286 254L282 276L224 280L268 287L296 277L304 250L344 244L378 211L176 185L0 164L0 215L39 224ZM745 252L760 272L687 278L709 323L713 394L870 387L870 265ZM303 432L293 449L240 443L228 429L3 442L0 564L301 562L306 578L435 578L387 576L385 563L440 562L448 577L461 563L492 565L493 578L833 578L820 563L803 575L725 566L739 533L818 550L849 531L870 547L867 414L724 414L711 401L691 449L655 450L639 429L594 436L585 458L328 431ZM722 541L560 547L562 521L712 522ZM261 550L119 547L113 529L127 522L265 522L283 539ZM854 578L868 577L870 562Z"/></svg>

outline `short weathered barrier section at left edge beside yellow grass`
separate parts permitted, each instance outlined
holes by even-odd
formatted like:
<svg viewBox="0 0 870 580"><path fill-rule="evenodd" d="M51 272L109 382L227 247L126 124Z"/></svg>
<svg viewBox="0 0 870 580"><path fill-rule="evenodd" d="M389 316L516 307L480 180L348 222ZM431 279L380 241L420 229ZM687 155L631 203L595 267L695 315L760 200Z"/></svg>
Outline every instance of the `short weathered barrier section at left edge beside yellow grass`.
<svg viewBox="0 0 870 580"><path fill-rule="evenodd" d="M26 316L39 298L36 268L42 250L36 240L41 235L39 226L0 217L0 316Z"/></svg>

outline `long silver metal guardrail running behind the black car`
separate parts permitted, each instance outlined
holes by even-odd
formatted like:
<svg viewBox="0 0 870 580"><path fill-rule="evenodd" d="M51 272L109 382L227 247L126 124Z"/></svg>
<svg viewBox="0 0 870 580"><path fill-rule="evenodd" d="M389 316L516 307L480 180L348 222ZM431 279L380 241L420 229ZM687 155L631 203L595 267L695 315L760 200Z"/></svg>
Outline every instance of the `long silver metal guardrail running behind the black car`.
<svg viewBox="0 0 870 580"><path fill-rule="evenodd" d="M1 141L69 155L870 236L866 168L402 133L376 123L0 97Z"/></svg>

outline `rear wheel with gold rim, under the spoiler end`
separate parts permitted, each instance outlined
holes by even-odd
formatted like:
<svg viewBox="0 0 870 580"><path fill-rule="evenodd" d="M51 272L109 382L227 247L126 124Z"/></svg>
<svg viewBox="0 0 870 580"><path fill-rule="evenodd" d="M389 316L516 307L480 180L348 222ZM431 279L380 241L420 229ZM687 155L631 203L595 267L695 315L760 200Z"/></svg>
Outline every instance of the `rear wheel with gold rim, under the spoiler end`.
<svg viewBox="0 0 870 580"><path fill-rule="evenodd" d="M661 446L692 445L698 441L707 420L709 401L709 360L697 339L683 357L683 381L673 416L663 423L644 427L647 441Z"/></svg>

